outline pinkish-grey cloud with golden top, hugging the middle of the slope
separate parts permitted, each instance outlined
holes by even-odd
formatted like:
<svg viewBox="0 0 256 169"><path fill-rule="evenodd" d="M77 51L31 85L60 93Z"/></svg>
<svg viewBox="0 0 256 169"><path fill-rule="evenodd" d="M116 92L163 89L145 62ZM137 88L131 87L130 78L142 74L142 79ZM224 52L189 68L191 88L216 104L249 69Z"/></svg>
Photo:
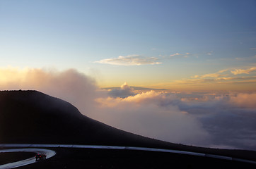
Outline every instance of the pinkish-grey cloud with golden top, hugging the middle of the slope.
<svg viewBox="0 0 256 169"><path fill-rule="evenodd" d="M120 98L100 98L100 121L147 137L182 144L204 144L209 135L199 121L178 106L167 105L175 97L144 92Z"/></svg>

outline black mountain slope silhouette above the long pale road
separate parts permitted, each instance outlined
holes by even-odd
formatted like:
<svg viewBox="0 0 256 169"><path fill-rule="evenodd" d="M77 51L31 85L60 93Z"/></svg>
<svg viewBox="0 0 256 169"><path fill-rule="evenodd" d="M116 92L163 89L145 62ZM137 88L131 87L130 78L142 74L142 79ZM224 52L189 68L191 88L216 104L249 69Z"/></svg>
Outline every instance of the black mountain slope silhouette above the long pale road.
<svg viewBox="0 0 256 169"><path fill-rule="evenodd" d="M185 146L124 132L82 115L66 101L21 90L0 92L0 143L142 146L256 158L255 151Z"/></svg>

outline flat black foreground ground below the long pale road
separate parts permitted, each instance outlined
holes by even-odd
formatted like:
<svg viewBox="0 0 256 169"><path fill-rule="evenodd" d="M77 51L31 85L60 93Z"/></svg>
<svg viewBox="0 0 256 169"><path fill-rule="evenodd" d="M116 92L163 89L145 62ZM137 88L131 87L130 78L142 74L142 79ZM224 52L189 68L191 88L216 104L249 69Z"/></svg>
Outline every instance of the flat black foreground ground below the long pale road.
<svg viewBox="0 0 256 169"><path fill-rule="evenodd" d="M163 152L64 148L53 150L57 152L56 156L22 168L255 168L250 163Z"/></svg>

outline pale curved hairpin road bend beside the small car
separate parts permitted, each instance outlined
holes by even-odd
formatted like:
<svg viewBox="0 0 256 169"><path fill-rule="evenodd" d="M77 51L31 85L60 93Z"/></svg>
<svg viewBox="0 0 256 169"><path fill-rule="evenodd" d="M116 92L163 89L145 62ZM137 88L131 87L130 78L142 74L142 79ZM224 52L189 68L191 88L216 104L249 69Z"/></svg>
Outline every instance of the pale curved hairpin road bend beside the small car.
<svg viewBox="0 0 256 169"><path fill-rule="evenodd" d="M45 154L46 158L51 158L52 156L54 156L56 154L55 151L52 150L48 150L48 149L2 149L0 150L0 153L9 153L9 152L33 152L36 154ZM21 167L23 165L28 165L30 163L35 163L35 157L32 158L28 158L25 159L23 161L17 161L14 163L7 163L4 165L0 165L0 169L4 169L4 168L17 168L17 167Z"/></svg>

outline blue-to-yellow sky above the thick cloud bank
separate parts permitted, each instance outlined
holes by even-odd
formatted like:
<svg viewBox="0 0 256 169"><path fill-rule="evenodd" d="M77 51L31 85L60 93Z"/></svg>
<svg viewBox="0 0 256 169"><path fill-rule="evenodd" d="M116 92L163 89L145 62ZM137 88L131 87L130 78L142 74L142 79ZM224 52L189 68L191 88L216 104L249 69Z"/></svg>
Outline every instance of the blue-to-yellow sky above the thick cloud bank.
<svg viewBox="0 0 256 169"><path fill-rule="evenodd" d="M256 1L0 1L0 68L99 87L256 89Z"/></svg>

